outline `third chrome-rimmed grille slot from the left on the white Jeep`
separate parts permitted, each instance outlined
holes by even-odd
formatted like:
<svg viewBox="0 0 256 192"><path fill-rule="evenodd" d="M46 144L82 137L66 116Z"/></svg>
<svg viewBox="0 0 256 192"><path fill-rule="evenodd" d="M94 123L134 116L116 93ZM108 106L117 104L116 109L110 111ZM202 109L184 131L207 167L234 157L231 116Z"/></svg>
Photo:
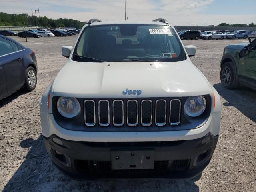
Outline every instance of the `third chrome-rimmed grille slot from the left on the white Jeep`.
<svg viewBox="0 0 256 192"><path fill-rule="evenodd" d="M124 125L124 102L122 100L113 101L113 124L114 126Z"/></svg>

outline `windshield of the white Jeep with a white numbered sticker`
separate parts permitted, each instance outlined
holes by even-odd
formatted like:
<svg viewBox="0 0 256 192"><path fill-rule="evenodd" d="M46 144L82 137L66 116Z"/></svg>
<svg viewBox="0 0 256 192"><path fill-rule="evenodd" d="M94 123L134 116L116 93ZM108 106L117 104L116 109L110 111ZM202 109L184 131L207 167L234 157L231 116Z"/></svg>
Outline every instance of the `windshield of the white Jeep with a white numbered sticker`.
<svg viewBox="0 0 256 192"><path fill-rule="evenodd" d="M185 60L178 36L170 26L119 24L86 27L76 44L73 60L79 62Z"/></svg>

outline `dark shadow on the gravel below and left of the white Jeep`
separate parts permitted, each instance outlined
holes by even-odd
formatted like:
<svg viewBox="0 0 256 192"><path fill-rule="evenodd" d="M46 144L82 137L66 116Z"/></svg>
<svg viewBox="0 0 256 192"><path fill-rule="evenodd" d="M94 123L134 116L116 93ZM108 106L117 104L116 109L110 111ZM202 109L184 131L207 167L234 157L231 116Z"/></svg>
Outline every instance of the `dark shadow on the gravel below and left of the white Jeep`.
<svg viewBox="0 0 256 192"><path fill-rule="evenodd" d="M20 191L187 191L198 192L195 184L201 175L191 180L168 179L111 179L111 180L72 180L62 174L51 162L42 139L26 139L22 148L30 148L24 162L8 180L3 192Z"/></svg>

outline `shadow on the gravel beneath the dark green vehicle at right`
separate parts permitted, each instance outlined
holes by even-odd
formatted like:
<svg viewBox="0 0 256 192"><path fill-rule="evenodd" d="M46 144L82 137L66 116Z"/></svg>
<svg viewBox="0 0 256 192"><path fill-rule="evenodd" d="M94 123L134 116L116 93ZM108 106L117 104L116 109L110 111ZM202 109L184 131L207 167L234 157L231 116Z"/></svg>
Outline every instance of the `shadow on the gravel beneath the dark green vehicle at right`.
<svg viewBox="0 0 256 192"><path fill-rule="evenodd" d="M256 92L254 90L244 86L235 90L228 90L221 83L215 84L214 88L227 101L223 103L224 106L234 106L250 120L256 122Z"/></svg>

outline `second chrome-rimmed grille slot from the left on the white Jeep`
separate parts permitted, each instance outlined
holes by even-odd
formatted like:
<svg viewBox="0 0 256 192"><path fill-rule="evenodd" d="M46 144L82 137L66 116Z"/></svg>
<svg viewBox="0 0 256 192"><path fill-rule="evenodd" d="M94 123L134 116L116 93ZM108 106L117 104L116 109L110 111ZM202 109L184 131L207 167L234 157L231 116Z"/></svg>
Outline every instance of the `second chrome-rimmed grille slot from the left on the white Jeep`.
<svg viewBox="0 0 256 192"><path fill-rule="evenodd" d="M109 112L109 101L100 100L98 104L99 110L99 124L100 126L109 126L110 124L110 112Z"/></svg>

